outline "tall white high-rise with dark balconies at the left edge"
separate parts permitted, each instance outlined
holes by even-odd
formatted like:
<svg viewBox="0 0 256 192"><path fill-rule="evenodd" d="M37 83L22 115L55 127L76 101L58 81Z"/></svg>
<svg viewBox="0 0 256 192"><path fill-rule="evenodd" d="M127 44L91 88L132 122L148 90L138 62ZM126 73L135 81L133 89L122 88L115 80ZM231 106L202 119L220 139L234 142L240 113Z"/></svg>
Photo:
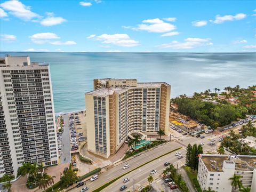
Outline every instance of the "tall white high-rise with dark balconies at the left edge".
<svg viewBox="0 0 256 192"><path fill-rule="evenodd" d="M58 164L50 68L29 57L0 59L0 177L22 163Z"/></svg>

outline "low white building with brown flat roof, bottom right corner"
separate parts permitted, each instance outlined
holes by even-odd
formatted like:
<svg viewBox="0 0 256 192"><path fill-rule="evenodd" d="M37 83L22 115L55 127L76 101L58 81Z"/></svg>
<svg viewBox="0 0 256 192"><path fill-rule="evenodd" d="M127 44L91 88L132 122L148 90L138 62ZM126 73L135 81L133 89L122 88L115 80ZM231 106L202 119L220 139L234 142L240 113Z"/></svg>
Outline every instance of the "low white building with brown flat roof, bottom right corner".
<svg viewBox="0 0 256 192"><path fill-rule="evenodd" d="M256 156L199 155L197 180L202 190L209 187L217 192L239 191L229 178L241 175L243 187L256 191Z"/></svg>

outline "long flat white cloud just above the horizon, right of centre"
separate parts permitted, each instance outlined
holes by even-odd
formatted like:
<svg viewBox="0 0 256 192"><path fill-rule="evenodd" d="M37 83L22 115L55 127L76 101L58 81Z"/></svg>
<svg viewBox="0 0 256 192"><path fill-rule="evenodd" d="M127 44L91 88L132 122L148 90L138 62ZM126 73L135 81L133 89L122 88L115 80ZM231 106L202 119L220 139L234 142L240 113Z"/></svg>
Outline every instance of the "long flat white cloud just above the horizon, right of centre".
<svg viewBox="0 0 256 192"><path fill-rule="evenodd" d="M172 41L171 43L166 43L159 45L159 48L166 49L194 49L198 46L205 46L205 45L213 45L213 43L209 42L210 38L186 38L184 42Z"/></svg>

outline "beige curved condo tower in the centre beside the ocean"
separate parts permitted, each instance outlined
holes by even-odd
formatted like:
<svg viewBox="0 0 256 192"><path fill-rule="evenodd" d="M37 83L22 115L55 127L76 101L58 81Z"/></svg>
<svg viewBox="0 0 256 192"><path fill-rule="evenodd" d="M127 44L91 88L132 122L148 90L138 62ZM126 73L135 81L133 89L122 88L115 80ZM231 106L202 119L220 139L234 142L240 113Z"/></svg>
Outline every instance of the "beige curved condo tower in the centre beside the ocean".
<svg viewBox="0 0 256 192"><path fill-rule="evenodd" d="M169 130L171 86L137 79L94 79L85 94L88 150L109 157L132 131Z"/></svg>

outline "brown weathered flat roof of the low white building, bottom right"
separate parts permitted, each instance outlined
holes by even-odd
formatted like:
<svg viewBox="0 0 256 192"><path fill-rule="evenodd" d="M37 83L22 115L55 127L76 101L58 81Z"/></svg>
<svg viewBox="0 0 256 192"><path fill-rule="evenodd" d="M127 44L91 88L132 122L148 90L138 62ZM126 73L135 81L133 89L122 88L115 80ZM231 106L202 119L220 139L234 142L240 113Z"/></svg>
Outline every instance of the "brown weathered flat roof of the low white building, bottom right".
<svg viewBox="0 0 256 192"><path fill-rule="evenodd" d="M201 154L201 159L207 170L211 172L222 172L223 161L234 161L236 164L235 170L237 171L252 171L253 169L256 169L256 156Z"/></svg>

